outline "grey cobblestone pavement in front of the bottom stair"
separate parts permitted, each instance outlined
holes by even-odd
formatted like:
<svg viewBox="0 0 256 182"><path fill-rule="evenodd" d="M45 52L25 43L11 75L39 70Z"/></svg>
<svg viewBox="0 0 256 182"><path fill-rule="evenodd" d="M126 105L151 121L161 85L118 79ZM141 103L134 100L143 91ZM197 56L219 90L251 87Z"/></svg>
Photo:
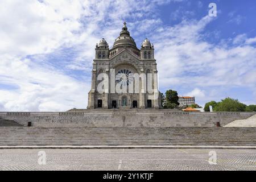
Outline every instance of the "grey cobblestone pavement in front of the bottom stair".
<svg viewBox="0 0 256 182"><path fill-rule="evenodd" d="M46 164L39 164L39 151ZM209 158L217 156L217 164ZM211 160L212 161L212 160ZM2 149L0 170L254 170L256 150Z"/></svg>

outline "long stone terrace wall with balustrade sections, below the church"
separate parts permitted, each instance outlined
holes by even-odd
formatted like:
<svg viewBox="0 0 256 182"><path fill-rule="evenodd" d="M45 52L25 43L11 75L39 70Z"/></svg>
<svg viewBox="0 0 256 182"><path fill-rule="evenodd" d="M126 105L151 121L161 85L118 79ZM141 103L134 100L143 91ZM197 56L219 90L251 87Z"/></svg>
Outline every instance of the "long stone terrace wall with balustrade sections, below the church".
<svg viewBox="0 0 256 182"><path fill-rule="evenodd" d="M168 109L144 110L82 110L68 112L0 112L3 119L14 120L24 126L87 126L87 127L192 127L224 126L237 119L246 119L255 113L247 112L182 112Z"/></svg>

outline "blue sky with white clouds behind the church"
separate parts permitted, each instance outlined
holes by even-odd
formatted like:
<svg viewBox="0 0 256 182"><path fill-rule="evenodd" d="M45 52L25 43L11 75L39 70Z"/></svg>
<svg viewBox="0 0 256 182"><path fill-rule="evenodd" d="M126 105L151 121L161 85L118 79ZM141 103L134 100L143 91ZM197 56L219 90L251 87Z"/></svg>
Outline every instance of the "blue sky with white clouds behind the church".
<svg viewBox="0 0 256 182"><path fill-rule="evenodd" d="M85 108L96 43L112 47L123 21L137 47L154 43L161 92L256 104L255 10L254 0L0 1L0 110Z"/></svg>

